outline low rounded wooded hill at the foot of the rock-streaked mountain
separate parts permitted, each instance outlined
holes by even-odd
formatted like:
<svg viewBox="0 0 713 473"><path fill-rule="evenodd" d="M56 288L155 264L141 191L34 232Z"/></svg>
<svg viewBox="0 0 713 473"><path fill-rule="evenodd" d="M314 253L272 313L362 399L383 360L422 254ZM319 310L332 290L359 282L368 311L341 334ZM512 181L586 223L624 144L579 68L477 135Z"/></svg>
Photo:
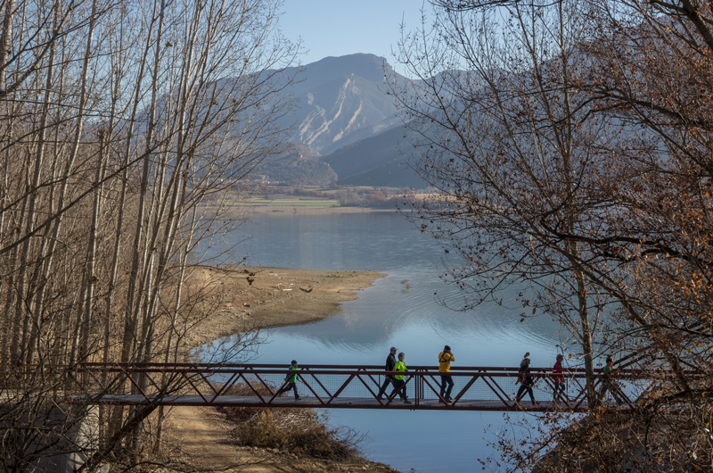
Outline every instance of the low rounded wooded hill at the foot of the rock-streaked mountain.
<svg viewBox="0 0 713 473"><path fill-rule="evenodd" d="M337 180L337 174L319 158L309 146L288 143L279 154L261 162L253 176L262 176L268 182L328 186Z"/></svg>

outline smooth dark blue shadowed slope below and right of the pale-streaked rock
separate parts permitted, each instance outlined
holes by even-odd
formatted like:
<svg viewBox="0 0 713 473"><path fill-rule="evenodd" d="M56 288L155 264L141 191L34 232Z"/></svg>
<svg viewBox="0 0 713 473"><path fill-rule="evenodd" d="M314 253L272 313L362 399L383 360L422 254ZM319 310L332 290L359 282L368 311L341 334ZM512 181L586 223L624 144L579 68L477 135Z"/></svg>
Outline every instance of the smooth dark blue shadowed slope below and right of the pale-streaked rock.
<svg viewBox="0 0 713 473"><path fill-rule="evenodd" d="M403 126L388 129L375 137L346 145L322 160L337 173L340 185L427 187L428 184L406 165L401 154L401 151L411 153L413 150L406 139L407 132Z"/></svg>

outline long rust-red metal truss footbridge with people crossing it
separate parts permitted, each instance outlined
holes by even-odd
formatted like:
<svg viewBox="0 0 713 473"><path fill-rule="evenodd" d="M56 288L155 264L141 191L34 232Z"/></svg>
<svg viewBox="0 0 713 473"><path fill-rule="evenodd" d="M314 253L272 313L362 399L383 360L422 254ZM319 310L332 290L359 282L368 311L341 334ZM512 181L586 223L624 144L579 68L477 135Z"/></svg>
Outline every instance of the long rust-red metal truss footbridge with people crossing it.
<svg viewBox="0 0 713 473"><path fill-rule="evenodd" d="M438 367L414 366L404 373L387 373L383 366L306 365L299 367L297 389L278 394L295 374L284 365L274 364L102 364L83 363L75 376L81 393L69 395L75 404L213 406L259 408L391 409L439 411L571 411L585 412L584 369L568 369L565 389L556 396L551 369L531 368L536 403L529 394L519 402L518 369L513 367L457 367L453 378L452 401L440 396ZM379 396L386 376L403 374L403 385L396 393L392 385ZM602 382L597 375L596 389ZM643 396L660 385L665 373L645 376L638 369L617 369L614 398L602 396L602 406L635 409ZM389 394L392 394L389 397ZM401 399L406 395L409 403Z"/></svg>

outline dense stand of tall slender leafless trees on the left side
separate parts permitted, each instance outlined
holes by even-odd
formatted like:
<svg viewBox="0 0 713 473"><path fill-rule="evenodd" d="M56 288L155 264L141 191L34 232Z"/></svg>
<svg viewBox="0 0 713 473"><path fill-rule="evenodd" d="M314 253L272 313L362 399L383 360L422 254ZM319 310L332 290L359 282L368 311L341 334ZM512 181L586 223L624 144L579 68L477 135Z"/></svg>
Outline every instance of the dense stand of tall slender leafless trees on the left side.
<svg viewBox="0 0 713 473"><path fill-rule="evenodd" d="M185 290L191 268L241 222L220 199L242 192L291 110L297 46L276 29L280 5L3 4L0 364L21 394L4 432L42 424L58 390L81 388L82 362L184 361L215 296ZM100 410L100 456L137 445L143 416ZM3 444L7 458L28 442Z"/></svg>

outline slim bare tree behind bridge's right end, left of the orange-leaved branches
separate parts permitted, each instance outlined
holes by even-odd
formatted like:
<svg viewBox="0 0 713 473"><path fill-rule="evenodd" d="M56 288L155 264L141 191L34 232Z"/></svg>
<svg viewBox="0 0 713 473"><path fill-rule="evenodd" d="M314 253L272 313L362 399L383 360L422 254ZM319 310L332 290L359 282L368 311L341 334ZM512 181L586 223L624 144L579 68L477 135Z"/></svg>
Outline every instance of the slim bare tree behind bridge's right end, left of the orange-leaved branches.
<svg viewBox="0 0 713 473"><path fill-rule="evenodd" d="M558 232L591 230L610 131L568 85L585 34L576 9L444 8L432 30L404 37L398 59L418 80L393 91L419 137L411 166L437 190L412 202L414 220L461 257L447 278L463 309L522 287L522 319L545 311L570 329L568 350L581 347L594 406L594 339L611 298L587 281L586 250Z"/></svg>

